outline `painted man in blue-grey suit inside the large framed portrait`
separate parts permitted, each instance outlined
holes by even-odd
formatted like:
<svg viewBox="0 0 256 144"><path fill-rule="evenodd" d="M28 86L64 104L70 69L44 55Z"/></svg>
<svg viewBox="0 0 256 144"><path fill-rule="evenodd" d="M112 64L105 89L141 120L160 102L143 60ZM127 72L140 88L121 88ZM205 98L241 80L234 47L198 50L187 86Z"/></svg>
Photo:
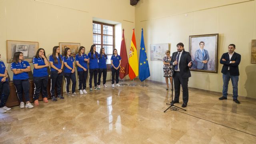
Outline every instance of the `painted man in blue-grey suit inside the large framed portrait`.
<svg viewBox="0 0 256 144"><path fill-rule="evenodd" d="M204 49L204 42L200 42L199 46L200 48L195 52L196 68L198 70L207 70L207 63L209 61L208 50Z"/></svg>

